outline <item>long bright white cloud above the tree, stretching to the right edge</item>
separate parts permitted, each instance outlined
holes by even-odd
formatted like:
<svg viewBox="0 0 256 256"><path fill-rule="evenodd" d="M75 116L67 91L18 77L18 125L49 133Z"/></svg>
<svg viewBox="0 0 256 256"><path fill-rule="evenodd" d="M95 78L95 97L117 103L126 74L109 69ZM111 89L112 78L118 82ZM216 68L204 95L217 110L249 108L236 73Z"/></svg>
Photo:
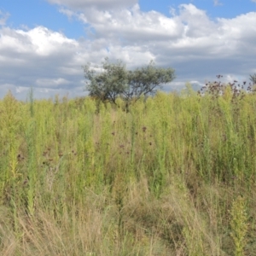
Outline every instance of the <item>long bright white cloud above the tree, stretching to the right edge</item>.
<svg viewBox="0 0 256 256"><path fill-rule="evenodd" d="M65 9L61 9L65 13ZM178 14L166 17L155 11L143 13L136 4L119 12L90 10L90 13L69 13L94 29L94 38L119 40L119 45L137 45L154 55L164 52L183 60L219 58L222 55L252 51L255 40L256 14L248 13L234 19L211 20L207 13L193 4L179 6ZM204 26L201 26L204 24ZM246 45L250 45L249 48ZM173 55L173 53L176 53Z"/></svg>

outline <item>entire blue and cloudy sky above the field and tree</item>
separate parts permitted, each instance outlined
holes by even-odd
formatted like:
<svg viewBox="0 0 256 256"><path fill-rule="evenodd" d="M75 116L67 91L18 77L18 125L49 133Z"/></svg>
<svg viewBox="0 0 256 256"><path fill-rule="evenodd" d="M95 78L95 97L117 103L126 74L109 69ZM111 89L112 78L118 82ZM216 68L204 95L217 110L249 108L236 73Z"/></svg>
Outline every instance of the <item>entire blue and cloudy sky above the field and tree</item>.
<svg viewBox="0 0 256 256"><path fill-rule="evenodd" d="M166 91L250 82L256 0L1 0L0 99L86 96L82 66L106 57L172 67Z"/></svg>

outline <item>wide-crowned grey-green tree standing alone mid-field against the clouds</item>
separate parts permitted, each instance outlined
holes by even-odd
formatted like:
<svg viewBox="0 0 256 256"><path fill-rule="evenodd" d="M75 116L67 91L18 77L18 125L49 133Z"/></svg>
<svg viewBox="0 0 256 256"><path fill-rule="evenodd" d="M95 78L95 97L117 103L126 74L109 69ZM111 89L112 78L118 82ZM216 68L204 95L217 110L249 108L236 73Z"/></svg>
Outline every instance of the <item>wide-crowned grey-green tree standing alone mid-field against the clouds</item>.
<svg viewBox="0 0 256 256"><path fill-rule="evenodd" d="M96 73L90 63L84 67L84 78L87 79L86 90L89 95L102 102L113 102L121 97L128 106L131 100L137 101L140 96L154 95L162 84L175 79L172 68L155 67L150 61L147 67L128 71L122 61L109 63L108 58L102 62L102 73Z"/></svg>

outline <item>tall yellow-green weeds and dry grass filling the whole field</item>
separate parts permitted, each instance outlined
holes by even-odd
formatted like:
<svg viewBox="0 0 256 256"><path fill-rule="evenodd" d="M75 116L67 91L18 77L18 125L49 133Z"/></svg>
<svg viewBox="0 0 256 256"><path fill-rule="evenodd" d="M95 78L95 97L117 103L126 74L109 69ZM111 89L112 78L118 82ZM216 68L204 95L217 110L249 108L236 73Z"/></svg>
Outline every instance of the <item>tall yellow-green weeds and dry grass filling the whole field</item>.
<svg viewBox="0 0 256 256"><path fill-rule="evenodd" d="M129 113L120 98L96 112L90 97L5 96L1 255L253 255L256 95L221 88Z"/></svg>

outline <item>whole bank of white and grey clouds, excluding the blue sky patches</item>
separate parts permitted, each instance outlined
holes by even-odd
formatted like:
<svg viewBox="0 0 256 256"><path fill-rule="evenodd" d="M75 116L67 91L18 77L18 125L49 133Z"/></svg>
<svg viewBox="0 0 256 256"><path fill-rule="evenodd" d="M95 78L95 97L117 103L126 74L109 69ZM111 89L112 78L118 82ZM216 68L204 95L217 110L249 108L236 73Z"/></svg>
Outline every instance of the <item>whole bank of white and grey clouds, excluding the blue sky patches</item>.
<svg viewBox="0 0 256 256"><path fill-rule="evenodd" d="M177 89L186 81L199 86L215 79L218 73L229 79L243 79L256 72L255 12L211 20L191 3L172 9L170 17L155 11L143 12L137 3L118 11L60 11L89 26L88 37L70 39L44 26L0 28L0 96L7 86L15 88L15 96L20 97L31 86L35 96L83 95L81 66L88 61L100 64L106 56L125 61L128 68L146 65L150 60L160 67L173 67L177 79L167 84L166 90Z"/></svg>

